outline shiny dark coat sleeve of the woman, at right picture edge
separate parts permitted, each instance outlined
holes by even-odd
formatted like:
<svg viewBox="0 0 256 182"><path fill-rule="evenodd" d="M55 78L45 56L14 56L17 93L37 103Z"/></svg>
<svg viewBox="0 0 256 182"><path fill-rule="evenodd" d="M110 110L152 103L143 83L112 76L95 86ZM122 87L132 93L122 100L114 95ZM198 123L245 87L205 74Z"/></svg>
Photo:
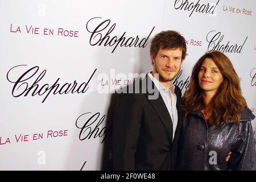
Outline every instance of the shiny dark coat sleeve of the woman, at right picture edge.
<svg viewBox="0 0 256 182"><path fill-rule="evenodd" d="M231 155L230 169L238 171L255 171L256 170L256 151L254 132L251 122L240 123L242 142Z"/></svg>

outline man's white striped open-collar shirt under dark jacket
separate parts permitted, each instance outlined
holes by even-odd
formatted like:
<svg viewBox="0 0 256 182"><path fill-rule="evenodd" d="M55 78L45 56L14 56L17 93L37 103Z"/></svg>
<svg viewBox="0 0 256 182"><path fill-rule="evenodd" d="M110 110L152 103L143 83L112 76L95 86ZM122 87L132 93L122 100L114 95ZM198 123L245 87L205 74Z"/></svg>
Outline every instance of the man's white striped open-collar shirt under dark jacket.
<svg viewBox="0 0 256 182"><path fill-rule="evenodd" d="M177 123L178 123L178 111L176 107L176 102L177 102L177 97L176 94L174 93L175 90L175 85L171 82L170 88L165 88L161 82L159 82L153 75L151 75L151 72L148 74L151 80L154 82L155 86L159 90L163 101L165 102L165 105L167 107L167 110L169 111L171 121L173 122L173 139L174 139L174 134L175 130L177 128ZM171 122L170 121L170 122Z"/></svg>

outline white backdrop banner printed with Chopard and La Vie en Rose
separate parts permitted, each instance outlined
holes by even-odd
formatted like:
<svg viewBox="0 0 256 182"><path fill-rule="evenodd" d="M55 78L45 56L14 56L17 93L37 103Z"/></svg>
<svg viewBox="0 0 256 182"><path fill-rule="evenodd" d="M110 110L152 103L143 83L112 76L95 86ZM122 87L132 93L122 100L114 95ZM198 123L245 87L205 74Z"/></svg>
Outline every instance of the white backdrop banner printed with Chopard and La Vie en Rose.
<svg viewBox="0 0 256 182"><path fill-rule="evenodd" d="M150 40L186 39L174 84L225 53L256 114L256 1L0 1L0 170L110 166L114 91L152 70ZM256 121L252 121L256 130Z"/></svg>

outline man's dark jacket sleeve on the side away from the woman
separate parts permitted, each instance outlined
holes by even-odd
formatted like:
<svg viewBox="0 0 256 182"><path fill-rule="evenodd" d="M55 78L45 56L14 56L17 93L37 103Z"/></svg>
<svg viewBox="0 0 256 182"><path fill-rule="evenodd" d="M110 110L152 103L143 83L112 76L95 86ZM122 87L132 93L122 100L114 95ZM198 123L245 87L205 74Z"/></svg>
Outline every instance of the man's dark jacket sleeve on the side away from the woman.
<svg viewBox="0 0 256 182"><path fill-rule="evenodd" d="M132 94L118 99L113 118L113 169L135 170L135 151L143 110Z"/></svg>

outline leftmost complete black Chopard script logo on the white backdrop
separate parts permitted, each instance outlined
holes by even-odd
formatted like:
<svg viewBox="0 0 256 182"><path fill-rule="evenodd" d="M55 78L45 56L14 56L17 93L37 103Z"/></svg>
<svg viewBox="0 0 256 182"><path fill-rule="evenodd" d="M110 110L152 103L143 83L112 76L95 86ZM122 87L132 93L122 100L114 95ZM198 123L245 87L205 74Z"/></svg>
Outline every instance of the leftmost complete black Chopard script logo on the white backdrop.
<svg viewBox="0 0 256 182"><path fill-rule="evenodd" d="M57 78L53 83L42 83L43 77L46 75L46 69L39 72L39 67L35 66L27 69L27 71L23 72L21 76L18 78L14 78L11 75L15 75L18 72L18 68L25 68L27 65L17 65L11 68L7 72L7 80L11 82L13 85L13 90L11 94L13 97L21 97L21 96L42 96L43 102L46 101L47 97L50 94L74 94L74 93L85 93L89 89L89 82L91 78L94 76L94 73L97 69L94 69L93 73L89 75L89 79L86 82L82 82L78 84L76 80L71 83L60 84L59 80L61 78ZM14 72L14 73L13 73Z"/></svg>

